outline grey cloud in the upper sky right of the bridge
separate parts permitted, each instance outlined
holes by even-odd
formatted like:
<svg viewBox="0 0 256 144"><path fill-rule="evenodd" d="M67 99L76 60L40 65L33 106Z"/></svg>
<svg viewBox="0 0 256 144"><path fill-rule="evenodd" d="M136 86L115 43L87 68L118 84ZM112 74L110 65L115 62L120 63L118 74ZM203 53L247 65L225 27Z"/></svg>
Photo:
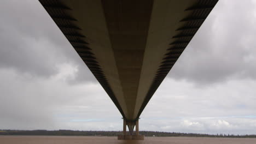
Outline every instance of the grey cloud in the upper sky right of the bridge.
<svg viewBox="0 0 256 144"><path fill-rule="evenodd" d="M256 78L255 4L219 1L168 76L196 83Z"/></svg>

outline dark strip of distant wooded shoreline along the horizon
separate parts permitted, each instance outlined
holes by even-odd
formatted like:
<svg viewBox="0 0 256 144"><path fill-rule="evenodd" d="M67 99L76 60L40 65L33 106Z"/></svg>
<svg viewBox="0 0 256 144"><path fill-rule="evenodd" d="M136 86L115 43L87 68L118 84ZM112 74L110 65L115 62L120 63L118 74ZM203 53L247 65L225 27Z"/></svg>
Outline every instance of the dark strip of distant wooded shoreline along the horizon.
<svg viewBox="0 0 256 144"><path fill-rule="evenodd" d="M0 129L0 135L53 135L53 136L117 136L122 131L80 131L80 130L6 130ZM185 137L251 137L256 135L232 135L232 134L195 134L195 133L170 133L161 131L139 131L140 135L145 136L185 136Z"/></svg>

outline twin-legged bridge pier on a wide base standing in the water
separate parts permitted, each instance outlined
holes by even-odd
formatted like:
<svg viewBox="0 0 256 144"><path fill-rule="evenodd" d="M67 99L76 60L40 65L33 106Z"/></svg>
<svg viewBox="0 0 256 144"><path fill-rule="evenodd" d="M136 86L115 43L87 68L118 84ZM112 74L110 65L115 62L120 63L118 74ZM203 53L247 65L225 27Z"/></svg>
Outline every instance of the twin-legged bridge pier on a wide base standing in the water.
<svg viewBox="0 0 256 144"><path fill-rule="evenodd" d="M126 125L129 128L129 135L126 134ZM133 135L133 129L136 127L136 133ZM123 135L118 135L118 140L144 140L144 135L139 135L138 119L127 121L124 118Z"/></svg>

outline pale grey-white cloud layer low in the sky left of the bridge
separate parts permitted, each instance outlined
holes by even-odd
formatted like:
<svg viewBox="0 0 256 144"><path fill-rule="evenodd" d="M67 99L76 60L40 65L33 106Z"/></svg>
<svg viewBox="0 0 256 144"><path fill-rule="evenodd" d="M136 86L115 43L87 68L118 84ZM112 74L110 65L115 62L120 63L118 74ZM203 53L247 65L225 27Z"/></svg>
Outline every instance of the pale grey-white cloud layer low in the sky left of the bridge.
<svg viewBox="0 0 256 144"><path fill-rule="evenodd" d="M110 125L110 119L121 121L119 111L100 85L68 83L75 70L66 64L59 67L56 75L45 79L0 69L0 129L100 130L104 125ZM121 125L121 122L117 124Z"/></svg>

